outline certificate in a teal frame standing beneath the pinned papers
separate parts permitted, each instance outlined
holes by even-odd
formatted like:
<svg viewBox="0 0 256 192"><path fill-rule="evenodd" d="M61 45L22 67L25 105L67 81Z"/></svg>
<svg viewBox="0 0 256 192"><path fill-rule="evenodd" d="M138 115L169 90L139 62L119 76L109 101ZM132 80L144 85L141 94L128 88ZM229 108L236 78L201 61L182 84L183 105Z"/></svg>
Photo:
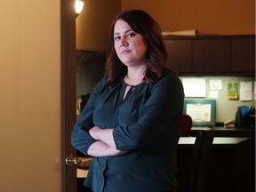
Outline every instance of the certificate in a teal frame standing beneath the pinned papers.
<svg viewBox="0 0 256 192"><path fill-rule="evenodd" d="M216 100L184 100L183 113L191 116L193 126L214 126Z"/></svg>

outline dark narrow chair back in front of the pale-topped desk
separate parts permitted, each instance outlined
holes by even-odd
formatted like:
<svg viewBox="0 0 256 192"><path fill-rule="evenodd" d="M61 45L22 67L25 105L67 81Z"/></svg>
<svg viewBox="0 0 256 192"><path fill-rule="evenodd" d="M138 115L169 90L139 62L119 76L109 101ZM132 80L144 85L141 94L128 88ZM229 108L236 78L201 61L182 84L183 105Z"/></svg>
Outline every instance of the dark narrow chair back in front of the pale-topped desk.
<svg viewBox="0 0 256 192"><path fill-rule="evenodd" d="M188 192L203 192L205 171L213 142L213 131L199 131L192 152Z"/></svg>

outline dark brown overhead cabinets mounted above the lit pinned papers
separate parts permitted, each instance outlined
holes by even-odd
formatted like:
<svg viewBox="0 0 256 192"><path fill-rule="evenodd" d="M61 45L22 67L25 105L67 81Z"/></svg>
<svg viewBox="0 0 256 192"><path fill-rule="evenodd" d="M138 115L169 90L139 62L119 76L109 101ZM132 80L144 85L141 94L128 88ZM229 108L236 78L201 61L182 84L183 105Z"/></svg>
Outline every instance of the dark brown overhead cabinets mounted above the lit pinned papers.
<svg viewBox="0 0 256 192"><path fill-rule="evenodd" d="M167 67L180 75L254 76L255 36L164 36Z"/></svg>

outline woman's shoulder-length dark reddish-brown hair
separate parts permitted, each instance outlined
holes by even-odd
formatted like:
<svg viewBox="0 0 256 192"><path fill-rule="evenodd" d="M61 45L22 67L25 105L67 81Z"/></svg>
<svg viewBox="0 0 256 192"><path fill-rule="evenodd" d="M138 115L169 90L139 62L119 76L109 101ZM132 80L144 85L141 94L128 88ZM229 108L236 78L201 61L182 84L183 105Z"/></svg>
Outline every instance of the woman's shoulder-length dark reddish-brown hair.
<svg viewBox="0 0 256 192"><path fill-rule="evenodd" d="M162 30L156 20L147 12L141 10L130 10L116 16L111 25L111 52L106 63L105 73L108 78L107 86L116 84L116 81L127 73L127 67L119 60L114 47L114 28L117 20L124 20L134 32L143 36L147 46L145 55L147 69L144 82L154 82L164 72L164 64L167 60Z"/></svg>

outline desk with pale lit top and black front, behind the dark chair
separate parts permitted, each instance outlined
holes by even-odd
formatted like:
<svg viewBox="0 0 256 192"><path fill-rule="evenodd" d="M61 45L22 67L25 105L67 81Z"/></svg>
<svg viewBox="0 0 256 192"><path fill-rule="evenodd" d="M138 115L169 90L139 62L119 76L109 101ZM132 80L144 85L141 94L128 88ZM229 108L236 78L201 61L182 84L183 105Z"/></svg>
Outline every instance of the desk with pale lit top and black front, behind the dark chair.
<svg viewBox="0 0 256 192"><path fill-rule="evenodd" d="M195 137L180 138L178 192L185 192ZM255 191L255 150L251 138L215 137L205 175L206 192Z"/></svg>

